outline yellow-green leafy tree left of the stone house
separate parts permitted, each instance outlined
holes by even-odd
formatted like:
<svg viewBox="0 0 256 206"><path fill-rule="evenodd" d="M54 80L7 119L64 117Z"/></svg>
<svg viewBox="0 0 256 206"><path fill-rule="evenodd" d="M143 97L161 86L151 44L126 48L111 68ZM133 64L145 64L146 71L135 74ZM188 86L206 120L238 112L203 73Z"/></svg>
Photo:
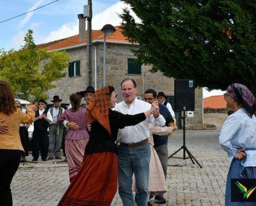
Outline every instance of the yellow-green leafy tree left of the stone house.
<svg viewBox="0 0 256 206"><path fill-rule="evenodd" d="M46 48L37 48L32 30L28 30L24 42L17 51L0 50L0 79L10 83L22 99L48 98L47 91L56 87L52 82L66 76L70 59L66 52L49 53Z"/></svg>

